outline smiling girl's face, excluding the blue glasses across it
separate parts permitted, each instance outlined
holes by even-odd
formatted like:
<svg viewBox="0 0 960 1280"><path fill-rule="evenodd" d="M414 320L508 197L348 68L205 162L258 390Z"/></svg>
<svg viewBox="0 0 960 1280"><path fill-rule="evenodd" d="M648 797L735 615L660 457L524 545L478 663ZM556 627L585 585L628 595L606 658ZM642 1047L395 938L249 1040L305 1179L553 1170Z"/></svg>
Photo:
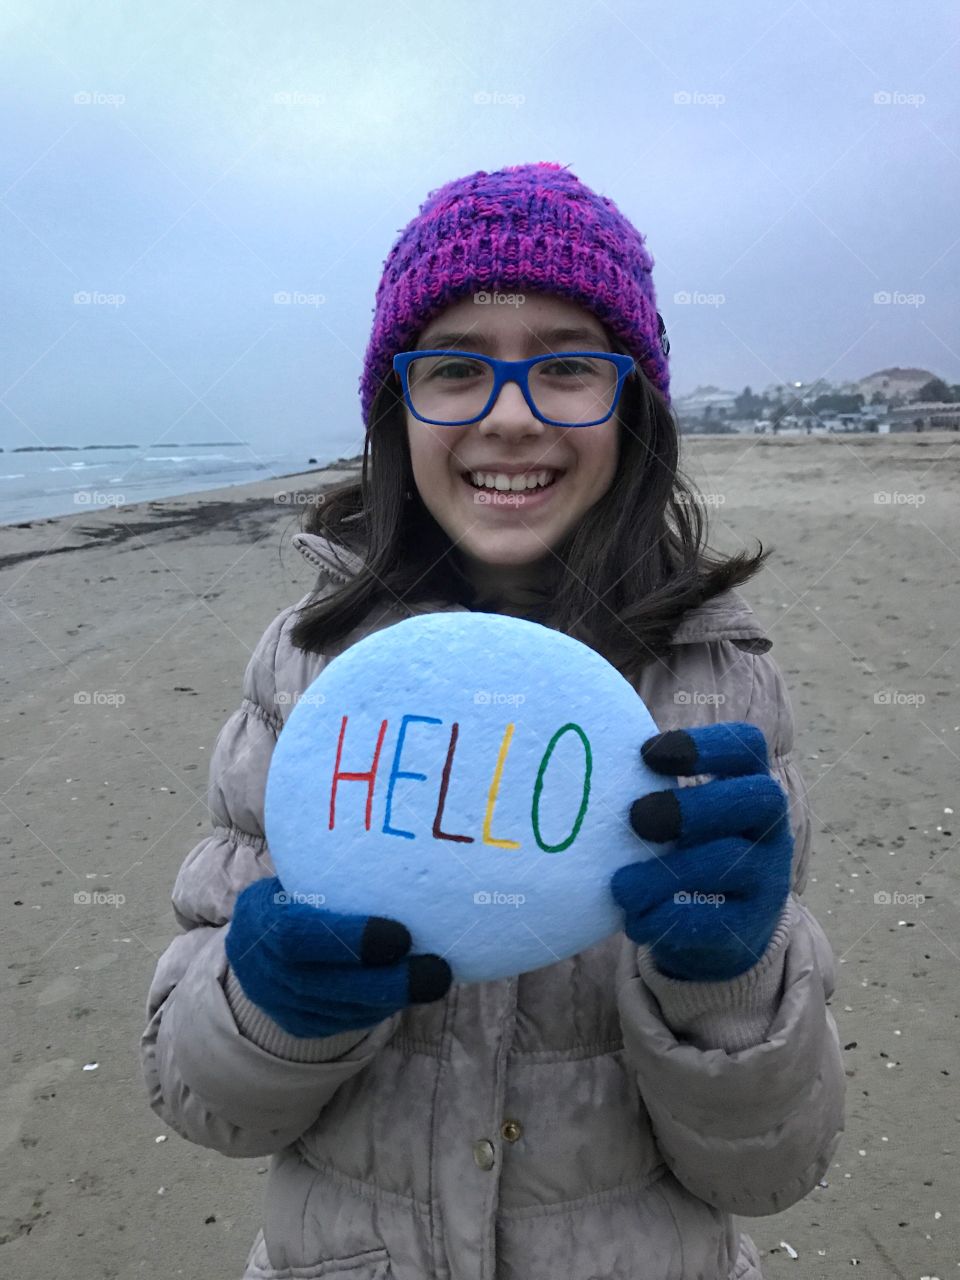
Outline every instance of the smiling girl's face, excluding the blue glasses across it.
<svg viewBox="0 0 960 1280"><path fill-rule="evenodd" d="M503 360L552 351L611 351L600 321L550 294L518 306L458 302L433 319L416 348L456 348ZM506 383L486 417L467 426L430 426L404 408L413 479L424 504L475 568L525 566L553 547L607 492L617 468L616 413L599 426L539 421L516 383ZM548 472L545 489L477 488L483 476ZM543 477L541 477L543 479Z"/></svg>

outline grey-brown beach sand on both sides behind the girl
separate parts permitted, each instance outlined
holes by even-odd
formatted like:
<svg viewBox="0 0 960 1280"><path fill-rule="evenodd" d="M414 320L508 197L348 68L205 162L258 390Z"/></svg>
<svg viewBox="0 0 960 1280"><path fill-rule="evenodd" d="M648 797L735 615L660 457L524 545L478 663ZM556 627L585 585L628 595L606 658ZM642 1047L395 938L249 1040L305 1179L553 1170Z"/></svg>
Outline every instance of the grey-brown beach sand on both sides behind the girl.
<svg viewBox="0 0 960 1280"><path fill-rule="evenodd" d="M806 899L849 1046L828 1185L745 1225L768 1277L859 1260L870 1280L943 1280L960 1266L960 439L686 452L716 544L774 547L745 594L794 698L818 822ZM264 628L314 581L289 545L302 507L274 500L291 484L0 529L3 1276L241 1274L266 1161L157 1143L137 1039L177 868L209 829L214 740ZM125 900L74 901L92 890Z"/></svg>

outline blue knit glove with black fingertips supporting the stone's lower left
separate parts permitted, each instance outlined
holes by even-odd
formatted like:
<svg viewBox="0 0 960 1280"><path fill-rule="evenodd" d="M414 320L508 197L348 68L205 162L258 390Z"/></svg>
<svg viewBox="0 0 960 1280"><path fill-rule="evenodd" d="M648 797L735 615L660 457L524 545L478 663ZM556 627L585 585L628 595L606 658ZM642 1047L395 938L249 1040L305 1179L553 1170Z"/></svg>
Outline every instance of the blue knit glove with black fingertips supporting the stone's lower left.
<svg viewBox="0 0 960 1280"><path fill-rule="evenodd" d="M451 986L442 956L407 956L410 931L380 915L338 915L291 900L274 876L238 895L227 959L248 1000L289 1036L334 1036L383 1021Z"/></svg>

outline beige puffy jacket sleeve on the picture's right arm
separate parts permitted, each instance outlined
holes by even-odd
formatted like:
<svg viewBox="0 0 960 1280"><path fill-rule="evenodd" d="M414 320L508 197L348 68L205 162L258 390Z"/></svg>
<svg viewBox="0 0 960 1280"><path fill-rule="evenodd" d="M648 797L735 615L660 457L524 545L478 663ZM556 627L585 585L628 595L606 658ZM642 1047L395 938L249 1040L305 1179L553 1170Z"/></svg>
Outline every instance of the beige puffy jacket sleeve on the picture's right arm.
<svg viewBox="0 0 960 1280"><path fill-rule="evenodd" d="M617 998L625 1050L673 1175L718 1210L762 1216L803 1199L829 1166L844 1130L846 1080L827 1007L833 952L800 900L810 819L791 759L783 677L765 653L737 655L730 641L710 648L718 650L717 672L739 667L746 680L745 696L739 705L728 701L723 718L764 731L773 773L787 791L792 892L753 969L731 982L682 982L660 974L648 948L626 941ZM728 687L736 690L737 678Z"/></svg>

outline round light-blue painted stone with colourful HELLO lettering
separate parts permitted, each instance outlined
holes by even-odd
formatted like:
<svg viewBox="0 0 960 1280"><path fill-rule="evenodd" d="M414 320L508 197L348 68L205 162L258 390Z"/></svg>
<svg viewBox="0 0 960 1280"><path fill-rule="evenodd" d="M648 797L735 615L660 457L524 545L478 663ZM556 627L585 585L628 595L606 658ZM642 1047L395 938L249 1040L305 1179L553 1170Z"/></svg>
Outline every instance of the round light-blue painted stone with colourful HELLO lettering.
<svg viewBox="0 0 960 1280"><path fill-rule="evenodd" d="M293 708L265 826L284 890L385 915L457 982L554 964L623 927L609 882L668 851L631 803L671 785L658 728L604 658L550 627L431 613L357 641Z"/></svg>

